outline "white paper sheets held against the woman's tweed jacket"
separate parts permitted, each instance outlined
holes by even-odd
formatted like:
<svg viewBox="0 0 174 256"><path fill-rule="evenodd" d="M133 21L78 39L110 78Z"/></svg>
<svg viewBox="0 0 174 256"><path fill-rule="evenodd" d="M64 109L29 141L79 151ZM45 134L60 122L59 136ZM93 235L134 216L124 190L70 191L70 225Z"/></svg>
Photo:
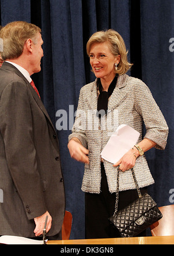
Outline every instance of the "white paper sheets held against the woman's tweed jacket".
<svg viewBox="0 0 174 256"><path fill-rule="evenodd" d="M117 163L136 144L139 136L140 133L132 127L119 125L102 150L101 157L110 163Z"/></svg>

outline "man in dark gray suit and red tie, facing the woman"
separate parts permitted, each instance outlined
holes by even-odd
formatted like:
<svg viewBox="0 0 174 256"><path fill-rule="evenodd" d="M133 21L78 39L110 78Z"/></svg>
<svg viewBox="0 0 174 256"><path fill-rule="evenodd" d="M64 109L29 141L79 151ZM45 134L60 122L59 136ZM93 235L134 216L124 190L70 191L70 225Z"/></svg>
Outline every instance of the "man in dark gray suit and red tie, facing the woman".
<svg viewBox="0 0 174 256"><path fill-rule="evenodd" d="M61 239L64 184L59 143L31 81L41 70L41 30L14 21L0 31L0 235ZM31 84L30 84L31 82Z"/></svg>

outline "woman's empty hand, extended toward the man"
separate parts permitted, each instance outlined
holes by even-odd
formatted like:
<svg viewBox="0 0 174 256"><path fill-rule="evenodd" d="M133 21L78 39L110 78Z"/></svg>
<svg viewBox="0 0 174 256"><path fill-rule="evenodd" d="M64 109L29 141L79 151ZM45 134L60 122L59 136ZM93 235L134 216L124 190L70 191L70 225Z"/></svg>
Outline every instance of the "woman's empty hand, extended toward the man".
<svg viewBox="0 0 174 256"><path fill-rule="evenodd" d="M70 152L70 156L75 160L89 164L88 153L89 150L82 146L81 142L77 138L73 138L68 142L68 150Z"/></svg>

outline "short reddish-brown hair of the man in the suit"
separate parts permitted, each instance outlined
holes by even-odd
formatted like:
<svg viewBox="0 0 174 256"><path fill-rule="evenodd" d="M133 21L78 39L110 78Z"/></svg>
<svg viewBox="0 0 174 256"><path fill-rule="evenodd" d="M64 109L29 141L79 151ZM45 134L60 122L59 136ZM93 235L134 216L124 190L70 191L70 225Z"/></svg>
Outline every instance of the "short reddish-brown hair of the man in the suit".
<svg viewBox="0 0 174 256"><path fill-rule="evenodd" d="M16 59L23 53L24 44L28 38L37 44L37 35L41 28L26 21L13 21L2 27L0 38L3 40L2 60Z"/></svg>

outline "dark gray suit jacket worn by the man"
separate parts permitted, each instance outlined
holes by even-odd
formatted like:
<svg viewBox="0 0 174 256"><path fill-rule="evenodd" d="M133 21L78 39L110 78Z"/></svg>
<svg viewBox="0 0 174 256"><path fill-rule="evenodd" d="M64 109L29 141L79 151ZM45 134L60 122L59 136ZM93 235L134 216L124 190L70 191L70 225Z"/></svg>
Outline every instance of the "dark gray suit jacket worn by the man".
<svg viewBox="0 0 174 256"><path fill-rule="evenodd" d="M0 235L34 237L34 218L52 216L60 232L65 199L59 143L48 113L10 63L0 68Z"/></svg>

